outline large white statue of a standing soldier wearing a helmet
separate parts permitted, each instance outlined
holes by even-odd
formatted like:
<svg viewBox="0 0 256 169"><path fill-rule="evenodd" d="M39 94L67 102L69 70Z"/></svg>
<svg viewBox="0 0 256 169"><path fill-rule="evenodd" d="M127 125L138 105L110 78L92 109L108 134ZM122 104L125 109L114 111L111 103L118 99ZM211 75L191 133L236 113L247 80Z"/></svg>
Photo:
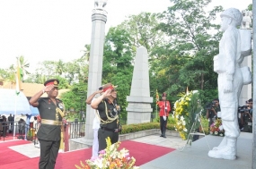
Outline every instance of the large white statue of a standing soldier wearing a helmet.
<svg viewBox="0 0 256 169"><path fill-rule="evenodd" d="M220 16L224 34L219 43L219 54L214 57L214 71L218 73L218 97L225 138L218 147L208 152L208 156L233 160L236 158L236 141L240 135L238 99L243 87L243 76L247 76L240 68L243 62L242 42L240 32L236 29L243 16L234 8L225 10Z"/></svg>

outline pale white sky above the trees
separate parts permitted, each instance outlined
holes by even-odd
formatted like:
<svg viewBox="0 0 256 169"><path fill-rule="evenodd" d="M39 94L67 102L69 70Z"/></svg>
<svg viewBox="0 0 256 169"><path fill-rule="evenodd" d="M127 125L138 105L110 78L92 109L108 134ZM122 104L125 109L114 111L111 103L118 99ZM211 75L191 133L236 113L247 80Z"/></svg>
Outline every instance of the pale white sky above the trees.
<svg viewBox="0 0 256 169"><path fill-rule="evenodd" d="M252 0L212 0L222 5L246 9ZM128 15L162 13L170 0L108 0L105 33ZM23 55L32 73L43 61L69 62L80 58L90 44L94 0L1 0L0 68L6 69Z"/></svg>

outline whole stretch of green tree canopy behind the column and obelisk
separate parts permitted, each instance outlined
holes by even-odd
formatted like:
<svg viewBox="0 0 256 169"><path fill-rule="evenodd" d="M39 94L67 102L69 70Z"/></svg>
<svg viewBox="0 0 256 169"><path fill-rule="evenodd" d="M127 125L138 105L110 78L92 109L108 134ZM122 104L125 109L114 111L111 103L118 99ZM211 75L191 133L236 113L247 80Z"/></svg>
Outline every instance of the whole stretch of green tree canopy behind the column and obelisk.
<svg viewBox="0 0 256 169"><path fill-rule="evenodd" d="M172 6L163 13L139 13L111 27L105 37L102 84L118 85L118 101L122 118L126 119L126 97L130 94L133 65L138 46L148 51L149 80L152 97L155 90L167 92L173 103L178 94L200 90L202 104L217 97L217 74L213 72L213 57L218 54L222 36L215 23L222 6L207 12L211 0L171 0ZM252 4L248 6L252 10ZM22 69L29 66L22 56ZM90 45L84 55L70 62L42 61L36 72L28 74L25 82L43 83L49 78L61 80L66 108L80 110L85 99L90 62ZM4 79L14 81L14 66L0 69ZM81 94L83 93L83 94ZM155 100L154 100L155 101ZM154 104L153 104L154 106Z"/></svg>

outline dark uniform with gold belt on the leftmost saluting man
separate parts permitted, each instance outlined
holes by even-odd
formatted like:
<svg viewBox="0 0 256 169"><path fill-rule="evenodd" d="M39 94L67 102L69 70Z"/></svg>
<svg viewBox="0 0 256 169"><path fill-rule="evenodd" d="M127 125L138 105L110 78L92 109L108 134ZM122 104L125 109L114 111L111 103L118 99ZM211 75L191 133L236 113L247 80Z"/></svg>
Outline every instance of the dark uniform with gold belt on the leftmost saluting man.
<svg viewBox="0 0 256 169"><path fill-rule="evenodd" d="M57 108L63 111L61 100L56 99L56 105L49 97L40 98L39 111L41 124L37 132L40 140L40 169L54 169L61 139L62 115Z"/></svg>

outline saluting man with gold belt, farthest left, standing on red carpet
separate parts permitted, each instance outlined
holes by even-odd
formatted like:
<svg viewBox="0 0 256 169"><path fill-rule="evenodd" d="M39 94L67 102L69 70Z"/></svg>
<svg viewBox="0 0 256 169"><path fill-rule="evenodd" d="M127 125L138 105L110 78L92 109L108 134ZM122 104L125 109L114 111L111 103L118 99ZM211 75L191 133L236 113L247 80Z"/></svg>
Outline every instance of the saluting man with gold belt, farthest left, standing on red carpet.
<svg viewBox="0 0 256 169"><path fill-rule="evenodd" d="M63 131L65 138L62 117L64 116L64 104L57 99L58 95L57 79L47 80L44 83L45 88L31 97L31 106L39 109L41 124L37 132L40 141L40 169L54 169L57 159L57 153L60 145L60 134ZM48 97L41 97L47 92Z"/></svg>

